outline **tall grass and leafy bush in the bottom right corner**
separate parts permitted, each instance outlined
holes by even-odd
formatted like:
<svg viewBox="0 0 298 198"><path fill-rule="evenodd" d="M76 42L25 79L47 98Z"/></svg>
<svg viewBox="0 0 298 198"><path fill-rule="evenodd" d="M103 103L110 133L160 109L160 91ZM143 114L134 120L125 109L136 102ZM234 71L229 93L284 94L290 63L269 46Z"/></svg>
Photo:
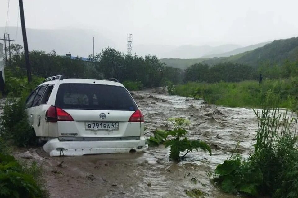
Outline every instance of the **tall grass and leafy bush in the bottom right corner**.
<svg viewBox="0 0 298 198"><path fill-rule="evenodd" d="M268 91L258 118L255 152L246 160L237 154L219 164L214 180L228 193L298 197L297 117L278 108L280 97Z"/></svg>

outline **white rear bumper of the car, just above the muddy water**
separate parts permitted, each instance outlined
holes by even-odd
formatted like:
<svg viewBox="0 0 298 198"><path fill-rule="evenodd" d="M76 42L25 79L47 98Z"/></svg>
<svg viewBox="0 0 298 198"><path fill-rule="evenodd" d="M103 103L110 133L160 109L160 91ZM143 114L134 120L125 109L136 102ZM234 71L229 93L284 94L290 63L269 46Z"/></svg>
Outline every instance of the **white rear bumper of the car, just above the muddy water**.
<svg viewBox="0 0 298 198"><path fill-rule="evenodd" d="M58 138L49 140L43 150L50 156L79 156L86 154L128 153L131 150L143 151L146 144L144 136L138 140L111 141L60 141Z"/></svg>

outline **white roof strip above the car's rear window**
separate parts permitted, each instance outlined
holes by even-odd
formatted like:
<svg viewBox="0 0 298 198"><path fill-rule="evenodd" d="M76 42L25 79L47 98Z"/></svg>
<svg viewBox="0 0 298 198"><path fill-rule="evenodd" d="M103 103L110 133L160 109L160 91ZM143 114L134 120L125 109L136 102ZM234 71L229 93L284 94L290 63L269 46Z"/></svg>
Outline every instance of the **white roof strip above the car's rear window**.
<svg viewBox="0 0 298 198"><path fill-rule="evenodd" d="M65 83L82 83L82 84L106 84L106 85L114 85L119 87L124 87L123 84L110 81L110 80L97 80L97 79L62 79L62 80L51 80L44 82L43 84L65 84Z"/></svg>

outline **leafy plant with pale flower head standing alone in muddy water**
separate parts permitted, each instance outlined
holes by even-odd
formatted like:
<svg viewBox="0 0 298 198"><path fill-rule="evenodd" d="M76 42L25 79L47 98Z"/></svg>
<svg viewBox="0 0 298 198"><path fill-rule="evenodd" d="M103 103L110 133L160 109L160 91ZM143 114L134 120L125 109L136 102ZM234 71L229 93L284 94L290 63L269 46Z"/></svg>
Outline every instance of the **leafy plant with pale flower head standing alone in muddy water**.
<svg viewBox="0 0 298 198"><path fill-rule="evenodd" d="M174 125L174 130L168 131L167 136L171 135L173 138L165 141L165 147L170 148L170 159L174 161L180 161L184 159L187 153L192 152L193 150L198 151L198 149L203 149L204 151L208 150L211 155L211 149L208 144L200 140L188 140L187 137L182 138L187 134L185 127L190 124L189 120L184 118L169 118ZM180 157L180 152L186 153Z"/></svg>

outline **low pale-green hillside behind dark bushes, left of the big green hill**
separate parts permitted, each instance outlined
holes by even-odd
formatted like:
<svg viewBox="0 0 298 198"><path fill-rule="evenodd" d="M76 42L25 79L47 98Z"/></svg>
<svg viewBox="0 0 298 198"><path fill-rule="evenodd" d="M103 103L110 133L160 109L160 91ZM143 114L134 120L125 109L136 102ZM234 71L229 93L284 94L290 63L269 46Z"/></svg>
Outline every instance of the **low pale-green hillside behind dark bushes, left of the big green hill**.
<svg viewBox="0 0 298 198"><path fill-rule="evenodd" d="M190 58L190 59L180 59L180 58L161 58L160 62L164 62L167 66L186 69L195 63L200 63L202 61L208 60L208 58Z"/></svg>

